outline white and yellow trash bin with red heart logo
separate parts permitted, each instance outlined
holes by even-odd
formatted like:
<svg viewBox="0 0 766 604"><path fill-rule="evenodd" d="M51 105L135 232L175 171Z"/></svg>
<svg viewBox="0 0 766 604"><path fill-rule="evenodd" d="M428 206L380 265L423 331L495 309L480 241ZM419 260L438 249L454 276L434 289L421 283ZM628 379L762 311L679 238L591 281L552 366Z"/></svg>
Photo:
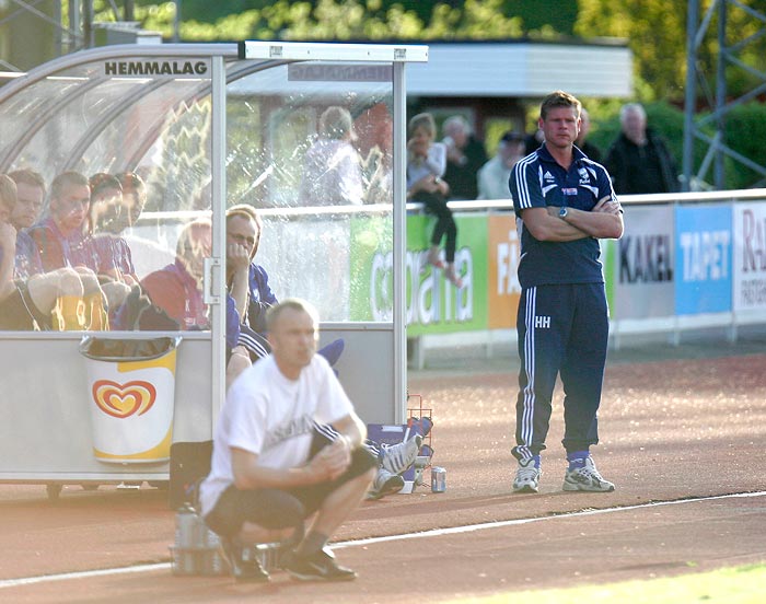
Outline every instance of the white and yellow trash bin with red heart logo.
<svg viewBox="0 0 766 604"><path fill-rule="evenodd" d="M96 460L140 464L170 458L179 344L179 336L82 338Z"/></svg>

